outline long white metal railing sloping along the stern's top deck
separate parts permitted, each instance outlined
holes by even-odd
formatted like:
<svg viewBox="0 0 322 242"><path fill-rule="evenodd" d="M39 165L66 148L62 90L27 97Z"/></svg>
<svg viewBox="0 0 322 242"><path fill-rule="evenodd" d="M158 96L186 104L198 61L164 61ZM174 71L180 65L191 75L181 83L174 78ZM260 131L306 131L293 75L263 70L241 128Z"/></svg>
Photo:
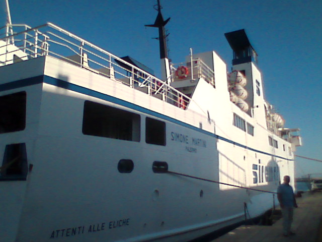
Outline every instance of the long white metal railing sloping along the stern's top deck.
<svg viewBox="0 0 322 242"><path fill-rule="evenodd" d="M36 28L7 24L0 28L0 40L6 42L0 46L2 65L50 55L184 109L191 100L167 82L51 23ZM19 51L9 50L9 45Z"/></svg>

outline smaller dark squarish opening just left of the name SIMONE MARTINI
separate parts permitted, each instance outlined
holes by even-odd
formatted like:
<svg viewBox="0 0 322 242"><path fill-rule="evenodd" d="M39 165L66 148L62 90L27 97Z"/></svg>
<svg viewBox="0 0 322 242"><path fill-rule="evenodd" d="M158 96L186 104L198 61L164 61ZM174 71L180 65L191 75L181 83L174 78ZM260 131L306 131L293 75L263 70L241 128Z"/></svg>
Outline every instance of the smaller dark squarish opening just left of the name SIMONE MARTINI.
<svg viewBox="0 0 322 242"><path fill-rule="evenodd" d="M153 145L166 145L166 123L160 120L146 117L145 142Z"/></svg>

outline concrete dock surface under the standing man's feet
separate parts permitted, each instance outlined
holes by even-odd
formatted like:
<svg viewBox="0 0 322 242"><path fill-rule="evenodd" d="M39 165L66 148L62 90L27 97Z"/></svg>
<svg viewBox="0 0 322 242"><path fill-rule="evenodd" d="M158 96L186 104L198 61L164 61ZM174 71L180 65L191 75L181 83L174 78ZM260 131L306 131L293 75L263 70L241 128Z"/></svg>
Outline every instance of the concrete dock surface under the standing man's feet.
<svg viewBox="0 0 322 242"><path fill-rule="evenodd" d="M296 201L292 224L295 235L283 236L283 219L279 219L272 226L239 226L211 242L322 242L322 192L302 194Z"/></svg>

